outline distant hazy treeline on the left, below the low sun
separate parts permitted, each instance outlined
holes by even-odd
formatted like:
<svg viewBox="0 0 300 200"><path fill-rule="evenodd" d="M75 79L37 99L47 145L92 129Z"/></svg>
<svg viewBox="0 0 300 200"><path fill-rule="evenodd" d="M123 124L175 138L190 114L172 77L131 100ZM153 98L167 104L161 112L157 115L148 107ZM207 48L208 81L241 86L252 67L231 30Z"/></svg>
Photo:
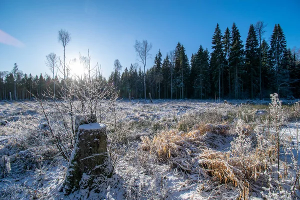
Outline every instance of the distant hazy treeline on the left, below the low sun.
<svg viewBox="0 0 300 200"><path fill-rule="evenodd" d="M31 98L45 98L45 96L57 99L65 98L64 94L64 79L58 78L57 76L51 78L49 75L45 77L40 73L39 76L32 76L31 73L28 75L18 70L17 64L14 63L14 67L11 72L0 71L0 100L9 100L11 92L12 100L25 100ZM14 73L15 72L15 73ZM85 75L83 78L74 76L66 77L66 91L72 84L81 87L86 85L88 76ZM94 75L93 79L97 79L101 83L99 91L103 90L103 86L107 86L107 81L102 75ZM55 86L55 89L54 89ZM75 88L75 87L73 87ZM54 96L53 96L54 94Z"/></svg>

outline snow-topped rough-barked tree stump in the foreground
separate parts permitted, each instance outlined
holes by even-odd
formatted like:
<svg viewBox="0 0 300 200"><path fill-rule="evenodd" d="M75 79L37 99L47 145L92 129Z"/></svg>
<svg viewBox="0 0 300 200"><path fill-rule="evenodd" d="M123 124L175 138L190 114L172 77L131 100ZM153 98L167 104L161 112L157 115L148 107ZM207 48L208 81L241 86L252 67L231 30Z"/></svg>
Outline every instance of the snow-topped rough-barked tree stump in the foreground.
<svg viewBox="0 0 300 200"><path fill-rule="evenodd" d="M100 123L79 125L64 179L64 194L78 189L91 190L111 176L111 171L106 126Z"/></svg>

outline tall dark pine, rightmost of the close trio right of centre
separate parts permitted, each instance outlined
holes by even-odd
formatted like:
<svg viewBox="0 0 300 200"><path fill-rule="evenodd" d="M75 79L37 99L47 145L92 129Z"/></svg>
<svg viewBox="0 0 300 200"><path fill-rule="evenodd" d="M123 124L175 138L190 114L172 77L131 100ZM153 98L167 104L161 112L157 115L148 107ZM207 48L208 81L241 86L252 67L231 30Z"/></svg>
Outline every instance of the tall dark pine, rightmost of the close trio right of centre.
<svg viewBox="0 0 300 200"><path fill-rule="evenodd" d="M233 22L231 28L232 46L230 50L230 67L234 68L234 97L238 98L239 91L242 90L242 81L240 79L240 69L243 65L243 44L240 39L239 30Z"/></svg>

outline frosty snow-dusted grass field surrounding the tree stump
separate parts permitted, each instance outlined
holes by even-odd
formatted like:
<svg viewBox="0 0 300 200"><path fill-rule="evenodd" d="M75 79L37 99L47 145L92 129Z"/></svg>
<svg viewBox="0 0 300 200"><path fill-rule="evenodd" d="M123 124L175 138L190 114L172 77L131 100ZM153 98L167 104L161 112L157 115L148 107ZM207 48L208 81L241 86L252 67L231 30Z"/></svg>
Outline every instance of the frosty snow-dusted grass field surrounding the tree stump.
<svg viewBox="0 0 300 200"><path fill-rule="evenodd" d="M112 177L69 196L60 189L68 162L39 103L0 102L0 199L298 199L294 102L275 115L270 100L117 101L104 118Z"/></svg>

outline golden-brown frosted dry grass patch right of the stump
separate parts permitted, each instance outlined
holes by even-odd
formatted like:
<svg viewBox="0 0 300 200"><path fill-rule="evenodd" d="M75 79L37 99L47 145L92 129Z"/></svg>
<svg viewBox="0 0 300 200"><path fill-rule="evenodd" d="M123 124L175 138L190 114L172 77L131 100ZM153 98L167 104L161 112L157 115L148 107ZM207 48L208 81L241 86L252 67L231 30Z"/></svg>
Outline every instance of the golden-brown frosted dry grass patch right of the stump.
<svg viewBox="0 0 300 200"><path fill-rule="evenodd" d="M229 135L230 126L225 124L199 124L187 132L165 131L152 140L144 136L141 149L185 173L201 171L211 177L211 183L231 184L238 189L239 198L247 198L249 191L255 190L253 185L266 182L263 172L270 167L269 160L275 150L262 135L254 134L249 125L239 122L232 128L238 136L226 152L207 148L205 137L206 133ZM255 141L250 137L255 137Z"/></svg>

